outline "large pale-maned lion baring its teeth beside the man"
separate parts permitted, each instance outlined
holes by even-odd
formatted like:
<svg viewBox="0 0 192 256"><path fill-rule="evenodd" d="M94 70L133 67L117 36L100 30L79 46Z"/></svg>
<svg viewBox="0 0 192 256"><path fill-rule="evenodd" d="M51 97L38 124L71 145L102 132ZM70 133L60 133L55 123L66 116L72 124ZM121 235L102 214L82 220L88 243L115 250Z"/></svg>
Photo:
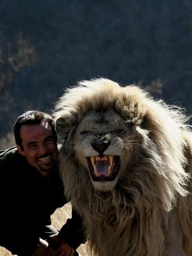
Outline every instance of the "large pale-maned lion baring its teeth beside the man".
<svg viewBox="0 0 192 256"><path fill-rule="evenodd" d="M192 132L136 85L81 81L55 107L65 194L98 256L192 255Z"/></svg>

